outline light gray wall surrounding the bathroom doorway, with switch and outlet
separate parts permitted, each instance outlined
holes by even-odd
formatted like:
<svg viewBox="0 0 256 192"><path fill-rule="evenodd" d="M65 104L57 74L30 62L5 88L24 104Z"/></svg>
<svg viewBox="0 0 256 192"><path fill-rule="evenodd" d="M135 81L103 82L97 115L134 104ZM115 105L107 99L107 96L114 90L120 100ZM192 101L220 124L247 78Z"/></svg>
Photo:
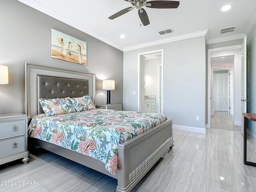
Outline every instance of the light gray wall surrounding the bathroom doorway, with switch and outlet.
<svg viewBox="0 0 256 192"><path fill-rule="evenodd" d="M175 125L205 128L205 36L124 52L124 110L138 110L138 53L158 49L164 49L164 114Z"/></svg>

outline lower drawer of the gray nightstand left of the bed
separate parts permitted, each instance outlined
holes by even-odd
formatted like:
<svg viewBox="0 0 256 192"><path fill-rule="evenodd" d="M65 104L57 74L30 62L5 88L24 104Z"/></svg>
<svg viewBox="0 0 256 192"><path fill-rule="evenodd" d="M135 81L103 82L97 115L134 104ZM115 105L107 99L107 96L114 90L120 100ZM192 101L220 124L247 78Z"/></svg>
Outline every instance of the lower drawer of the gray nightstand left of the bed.
<svg viewBox="0 0 256 192"><path fill-rule="evenodd" d="M2 140L0 146L0 157L25 151L25 136Z"/></svg>

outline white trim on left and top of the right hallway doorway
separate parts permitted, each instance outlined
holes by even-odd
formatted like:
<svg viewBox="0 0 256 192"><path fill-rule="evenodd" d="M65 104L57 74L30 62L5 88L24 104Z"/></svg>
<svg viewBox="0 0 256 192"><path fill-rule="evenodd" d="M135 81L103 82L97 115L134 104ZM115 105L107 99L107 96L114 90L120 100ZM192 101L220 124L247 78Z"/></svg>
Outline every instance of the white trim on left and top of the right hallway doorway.
<svg viewBox="0 0 256 192"><path fill-rule="evenodd" d="M207 128L210 128L211 126L211 102L210 102L210 83L211 83L211 53L216 51L225 51L225 50L233 50L242 48L242 45L234 45L234 46L228 46L228 47L220 47L220 48L214 48L214 49L208 49L207 51L207 90L208 90L208 98L207 98Z"/></svg>

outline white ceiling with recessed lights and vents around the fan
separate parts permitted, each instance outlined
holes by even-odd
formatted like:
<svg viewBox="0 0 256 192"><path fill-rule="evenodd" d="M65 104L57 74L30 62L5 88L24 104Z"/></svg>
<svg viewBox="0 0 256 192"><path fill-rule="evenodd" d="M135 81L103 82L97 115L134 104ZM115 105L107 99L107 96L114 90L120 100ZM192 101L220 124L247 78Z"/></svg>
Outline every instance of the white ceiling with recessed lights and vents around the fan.
<svg viewBox="0 0 256 192"><path fill-rule="evenodd" d="M177 9L144 8L150 24L140 27L138 10L114 19L112 14L130 7L124 0L19 0L66 24L86 32L120 50L163 40L201 30L208 31L209 39L246 33L255 18L256 0L180 0ZM232 8L222 12L222 6ZM220 29L237 26L235 32L220 35ZM171 34L158 34L158 31L172 28ZM120 34L126 38L121 39Z"/></svg>

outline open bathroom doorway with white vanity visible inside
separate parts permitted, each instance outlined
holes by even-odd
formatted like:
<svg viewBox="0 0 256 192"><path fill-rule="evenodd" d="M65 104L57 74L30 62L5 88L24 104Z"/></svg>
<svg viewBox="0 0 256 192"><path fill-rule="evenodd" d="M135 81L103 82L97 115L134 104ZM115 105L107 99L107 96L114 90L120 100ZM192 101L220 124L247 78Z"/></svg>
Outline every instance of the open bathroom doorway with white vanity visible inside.
<svg viewBox="0 0 256 192"><path fill-rule="evenodd" d="M138 111L163 113L163 50L138 56Z"/></svg>

